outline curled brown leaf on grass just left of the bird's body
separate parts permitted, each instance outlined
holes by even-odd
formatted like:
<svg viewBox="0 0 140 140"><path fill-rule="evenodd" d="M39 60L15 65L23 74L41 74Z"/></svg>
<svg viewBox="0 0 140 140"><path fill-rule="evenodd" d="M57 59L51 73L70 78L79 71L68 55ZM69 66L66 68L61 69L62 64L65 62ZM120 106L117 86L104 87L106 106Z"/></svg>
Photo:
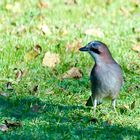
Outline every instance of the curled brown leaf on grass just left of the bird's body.
<svg viewBox="0 0 140 140"><path fill-rule="evenodd" d="M66 73L63 75L63 79L66 78L81 78L82 77L82 72L79 70L79 68L72 67L70 70L68 70Z"/></svg>

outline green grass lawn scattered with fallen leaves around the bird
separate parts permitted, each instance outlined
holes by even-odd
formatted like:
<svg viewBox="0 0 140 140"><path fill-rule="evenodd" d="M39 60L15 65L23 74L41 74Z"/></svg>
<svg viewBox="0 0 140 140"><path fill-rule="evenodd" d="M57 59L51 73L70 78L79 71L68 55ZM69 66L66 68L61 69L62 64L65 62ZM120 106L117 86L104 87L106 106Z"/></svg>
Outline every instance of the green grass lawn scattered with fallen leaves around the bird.
<svg viewBox="0 0 140 140"><path fill-rule="evenodd" d="M0 129L0 139L140 139L139 37L137 0L1 0L0 125L7 120L22 127ZM85 106L94 61L77 51L91 40L108 44L125 79L118 115L105 101L96 123L92 108ZM37 44L42 51L36 54ZM54 68L42 66L46 52L59 55ZM82 78L63 79L72 67Z"/></svg>

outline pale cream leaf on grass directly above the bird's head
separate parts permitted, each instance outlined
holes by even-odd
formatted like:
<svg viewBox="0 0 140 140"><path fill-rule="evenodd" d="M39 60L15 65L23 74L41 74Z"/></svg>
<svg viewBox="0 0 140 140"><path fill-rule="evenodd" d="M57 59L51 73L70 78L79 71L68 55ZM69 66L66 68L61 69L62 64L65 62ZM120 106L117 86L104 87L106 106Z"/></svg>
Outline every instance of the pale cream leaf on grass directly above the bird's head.
<svg viewBox="0 0 140 140"><path fill-rule="evenodd" d="M101 31L100 28L89 28L85 30L86 35L90 36L97 36L97 37L103 37L104 33Z"/></svg>

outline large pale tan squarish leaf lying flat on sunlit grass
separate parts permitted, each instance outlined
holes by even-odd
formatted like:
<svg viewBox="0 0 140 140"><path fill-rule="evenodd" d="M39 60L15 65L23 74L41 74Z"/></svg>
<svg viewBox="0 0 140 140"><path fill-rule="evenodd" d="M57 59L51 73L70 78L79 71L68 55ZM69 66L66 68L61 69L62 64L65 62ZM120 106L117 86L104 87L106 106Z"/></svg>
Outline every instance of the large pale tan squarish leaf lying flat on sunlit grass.
<svg viewBox="0 0 140 140"><path fill-rule="evenodd" d="M42 66L54 68L56 64L59 64L59 63L60 63L59 54L46 52L42 61Z"/></svg>

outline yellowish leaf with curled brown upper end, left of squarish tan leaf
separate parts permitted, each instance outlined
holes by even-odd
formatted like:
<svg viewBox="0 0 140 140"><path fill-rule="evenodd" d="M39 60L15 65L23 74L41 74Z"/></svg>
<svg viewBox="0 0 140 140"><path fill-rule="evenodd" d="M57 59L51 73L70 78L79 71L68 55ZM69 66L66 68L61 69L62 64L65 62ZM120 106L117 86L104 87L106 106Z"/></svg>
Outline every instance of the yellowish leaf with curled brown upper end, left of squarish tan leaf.
<svg viewBox="0 0 140 140"><path fill-rule="evenodd" d="M24 60L26 62L28 62L30 60L35 59L41 53L41 51L42 51L41 46L36 45L33 50L31 50L31 51L29 51L28 53L25 54Z"/></svg>

